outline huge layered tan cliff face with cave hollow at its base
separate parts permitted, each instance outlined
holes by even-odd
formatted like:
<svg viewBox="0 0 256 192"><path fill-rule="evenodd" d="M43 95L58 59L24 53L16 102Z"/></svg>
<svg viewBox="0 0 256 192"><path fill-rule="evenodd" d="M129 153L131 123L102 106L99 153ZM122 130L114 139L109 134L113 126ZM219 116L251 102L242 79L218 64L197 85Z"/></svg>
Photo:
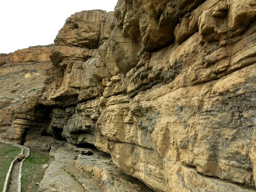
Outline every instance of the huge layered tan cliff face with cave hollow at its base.
<svg viewBox="0 0 256 192"><path fill-rule="evenodd" d="M9 130L92 144L157 192L255 191L255 18L253 0L76 13L56 37L52 82ZM30 113L42 124L19 122Z"/></svg>

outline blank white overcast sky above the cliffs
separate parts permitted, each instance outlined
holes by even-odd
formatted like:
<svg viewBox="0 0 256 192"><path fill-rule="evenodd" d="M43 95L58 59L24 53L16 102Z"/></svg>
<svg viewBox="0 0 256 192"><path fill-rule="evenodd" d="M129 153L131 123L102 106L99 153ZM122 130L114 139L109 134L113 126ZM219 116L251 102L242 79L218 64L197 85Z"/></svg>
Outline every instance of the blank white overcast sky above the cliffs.
<svg viewBox="0 0 256 192"><path fill-rule="evenodd" d="M1 0L0 53L54 43L66 18L82 10L114 11L118 0Z"/></svg>

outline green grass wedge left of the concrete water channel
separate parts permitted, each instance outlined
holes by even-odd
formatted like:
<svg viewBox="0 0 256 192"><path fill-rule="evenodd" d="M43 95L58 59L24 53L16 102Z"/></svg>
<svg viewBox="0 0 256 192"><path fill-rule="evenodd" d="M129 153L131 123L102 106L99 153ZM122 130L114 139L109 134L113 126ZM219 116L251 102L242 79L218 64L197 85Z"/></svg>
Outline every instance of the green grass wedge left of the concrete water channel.
<svg viewBox="0 0 256 192"><path fill-rule="evenodd" d="M20 148L0 143L0 191L4 188L4 181L11 162L20 152Z"/></svg>

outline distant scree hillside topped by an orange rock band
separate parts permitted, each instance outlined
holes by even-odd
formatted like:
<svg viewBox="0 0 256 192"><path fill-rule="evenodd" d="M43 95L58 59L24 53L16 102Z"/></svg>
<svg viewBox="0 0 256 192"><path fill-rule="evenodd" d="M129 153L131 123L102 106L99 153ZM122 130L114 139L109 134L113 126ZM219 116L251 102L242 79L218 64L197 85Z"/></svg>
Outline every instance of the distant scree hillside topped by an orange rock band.
<svg viewBox="0 0 256 192"><path fill-rule="evenodd" d="M17 104L42 89L55 70L50 61L53 45L34 46L10 54L0 54L0 133L12 122ZM8 108L10 106L10 108Z"/></svg>

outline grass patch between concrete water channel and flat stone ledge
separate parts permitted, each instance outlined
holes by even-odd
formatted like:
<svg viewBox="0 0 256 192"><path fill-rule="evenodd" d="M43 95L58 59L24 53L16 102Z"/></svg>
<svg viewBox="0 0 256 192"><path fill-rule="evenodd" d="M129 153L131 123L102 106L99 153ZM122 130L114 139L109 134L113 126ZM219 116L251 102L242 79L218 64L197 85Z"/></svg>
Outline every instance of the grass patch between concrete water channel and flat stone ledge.
<svg viewBox="0 0 256 192"><path fill-rule="evenodd" d="M46 170L41 166L47 163L49 163L49 154L30 149L30 156L22 165L21 192L37 191L36 183L42 180Z"/></svg>

